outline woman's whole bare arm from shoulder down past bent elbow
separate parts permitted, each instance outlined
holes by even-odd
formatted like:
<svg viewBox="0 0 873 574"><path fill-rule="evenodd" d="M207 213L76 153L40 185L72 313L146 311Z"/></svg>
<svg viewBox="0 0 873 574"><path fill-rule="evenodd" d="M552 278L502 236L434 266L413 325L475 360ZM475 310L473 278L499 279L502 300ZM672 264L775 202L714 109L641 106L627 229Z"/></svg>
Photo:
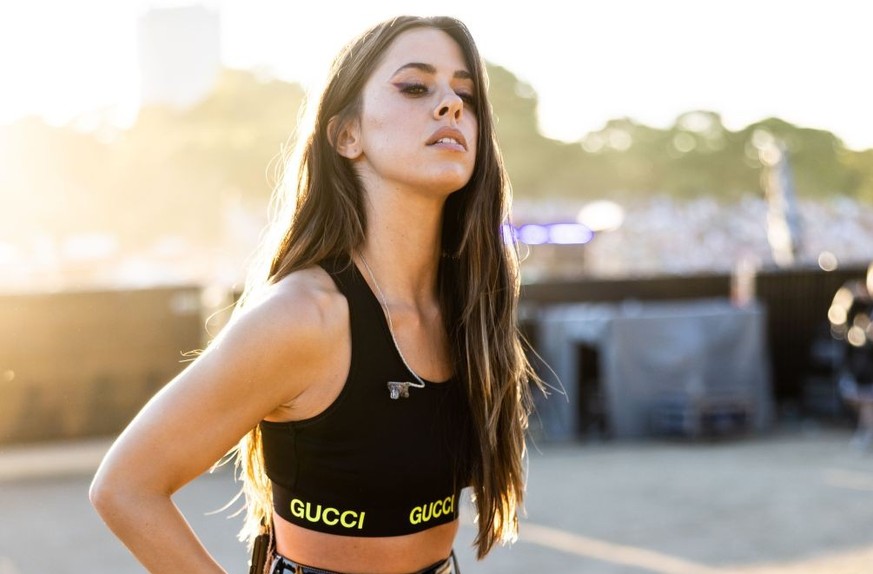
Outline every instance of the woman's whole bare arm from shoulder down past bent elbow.
<svg viewBox="0 0 873 574"><path fill-rule="evenodd" d="M328 350L347 332L345 300L319 291L316 272L300 273L227 325L143 408L100 465L92 504L150 572L222 572L172 494L266 415L289 403L293 411L296 397L331 376Z"/></svg>

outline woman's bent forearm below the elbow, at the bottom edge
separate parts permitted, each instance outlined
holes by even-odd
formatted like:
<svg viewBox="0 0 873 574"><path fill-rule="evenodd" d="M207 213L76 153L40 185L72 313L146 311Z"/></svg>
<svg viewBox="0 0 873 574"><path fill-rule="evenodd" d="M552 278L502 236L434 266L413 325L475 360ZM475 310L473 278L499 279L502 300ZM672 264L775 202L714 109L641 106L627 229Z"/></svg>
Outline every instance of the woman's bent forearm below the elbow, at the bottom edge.
<svg viewBox="0 0 873 574"><path fill-rule="evenodd" d="M224 574L169 496L94 485L91 502L106 525L155 574Z"/></svg>

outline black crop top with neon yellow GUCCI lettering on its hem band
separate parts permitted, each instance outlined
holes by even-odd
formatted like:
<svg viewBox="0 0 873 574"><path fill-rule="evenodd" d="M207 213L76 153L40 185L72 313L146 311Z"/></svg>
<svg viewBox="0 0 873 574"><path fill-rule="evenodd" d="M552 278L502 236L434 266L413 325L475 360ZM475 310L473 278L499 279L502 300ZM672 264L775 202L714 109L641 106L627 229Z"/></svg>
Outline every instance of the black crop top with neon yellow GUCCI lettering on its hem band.
<svg viewBox="0 0 873 574"><path fill-rule="evenodd" d="M451 522L467 485L470 449L459 382L425 381L392 399L389 381L412 381L382 307L354 263L321 265L349 305L352 356L339 397L303 421L260 424L276 513L346 536L397 536Z"/></svg>

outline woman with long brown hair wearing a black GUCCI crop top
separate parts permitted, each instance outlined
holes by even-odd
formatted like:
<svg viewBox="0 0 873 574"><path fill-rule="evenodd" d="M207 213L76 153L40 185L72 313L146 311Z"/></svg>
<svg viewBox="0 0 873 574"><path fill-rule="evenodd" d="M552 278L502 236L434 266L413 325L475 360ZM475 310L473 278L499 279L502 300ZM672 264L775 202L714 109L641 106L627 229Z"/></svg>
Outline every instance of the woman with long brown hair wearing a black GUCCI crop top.
<svg viewBox="0 0 873 574"><path fill-rule="evenodd" d="M454 19L401 17L331 72L267 272L94 479L153 572L221 571L170 496L240 437L243 536L269 528L273 572L451 572L468 486L478 556L516 534L538 379L475 44Z"/></svg>

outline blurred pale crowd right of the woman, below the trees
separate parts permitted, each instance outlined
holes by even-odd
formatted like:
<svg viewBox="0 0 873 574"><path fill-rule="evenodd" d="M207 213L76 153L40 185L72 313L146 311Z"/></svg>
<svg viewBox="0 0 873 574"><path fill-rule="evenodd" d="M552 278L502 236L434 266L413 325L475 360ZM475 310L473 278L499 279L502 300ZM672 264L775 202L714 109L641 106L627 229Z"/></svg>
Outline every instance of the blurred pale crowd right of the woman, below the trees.
<svg viewBox="0 0 873 574"><path fill-rule="evenodd" d="M572 221L584 203L517 202L515 223ZM653 197L622 205L624 219L585 245L527 249L527 281L548 277L633 277L729 273L740 262L775 267L768 239L768 204L745 196L677 201ZM873 258L873 206L851 198L798 202L795 264L833 270Z"/></svg>

